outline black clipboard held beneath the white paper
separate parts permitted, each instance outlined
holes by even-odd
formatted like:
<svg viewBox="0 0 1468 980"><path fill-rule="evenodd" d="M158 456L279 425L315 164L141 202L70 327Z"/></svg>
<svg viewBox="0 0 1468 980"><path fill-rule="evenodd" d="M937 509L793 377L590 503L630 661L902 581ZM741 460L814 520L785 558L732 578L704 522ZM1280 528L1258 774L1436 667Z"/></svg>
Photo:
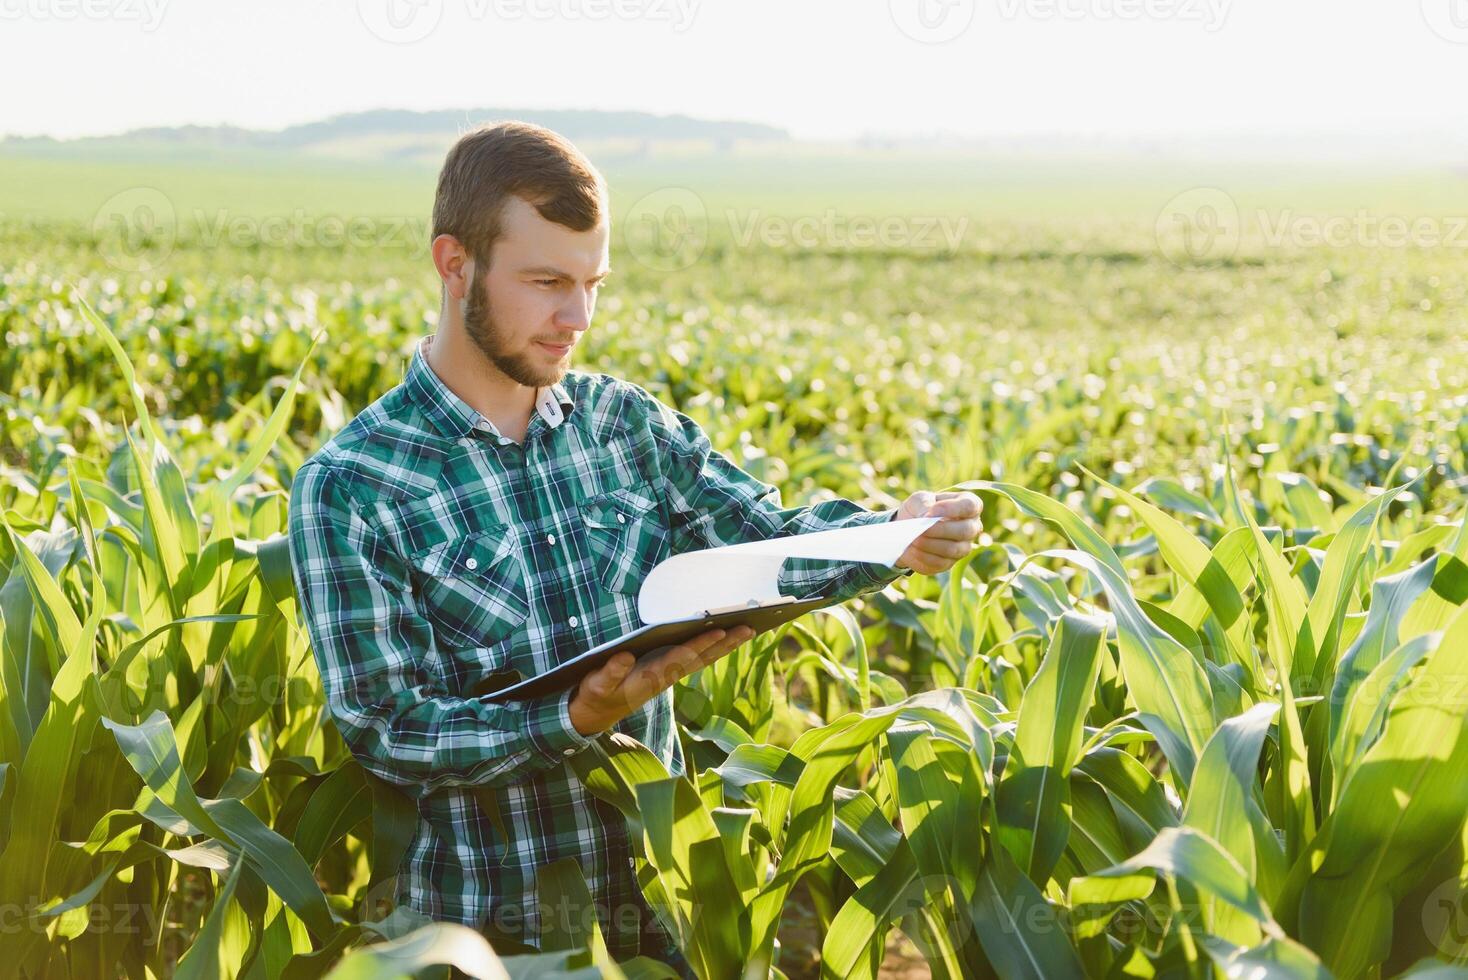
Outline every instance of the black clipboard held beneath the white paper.
<svg viewBox="0 0 1468 980"><path fill-rule="evenodd" d="M528 701L530 698L548 697L568 691L581 682L581 678L592 673L612 659L612 654L627 650L643 660L658 654L668 647L675 647L686 640L693 640L709 629L730 631L734 626L749 626L756 634L774 629L791 619L799 619L813 609L837 604L837 599L813 596L809 599L787 597L784 601L766 604L749 604L734 609L711 609L693 619L677 619L674 622L639 626L615 640L592 647L586 653L577 654L558 668L526 678L518 684L483 694L483 700L492 704L505 701Z"/></svg>

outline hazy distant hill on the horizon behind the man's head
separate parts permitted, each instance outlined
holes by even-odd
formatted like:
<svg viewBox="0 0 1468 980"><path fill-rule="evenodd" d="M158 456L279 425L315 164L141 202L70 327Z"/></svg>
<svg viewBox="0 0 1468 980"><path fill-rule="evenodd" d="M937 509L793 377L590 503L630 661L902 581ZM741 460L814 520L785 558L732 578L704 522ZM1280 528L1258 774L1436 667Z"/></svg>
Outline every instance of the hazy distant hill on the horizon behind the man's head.
<svg viewBox="0 0 1468 980"><path fill-rule="evenodd" d="M112 136L54 139L51 136L7 136L0 151L47 157L141 158L164 151L181 156L222 158L252 154L308 154L313 157L376 160L437 166L443 151L459 134L483 123L523 119L555 129L587 153L600 157L644 157L680 148L725 153L740 144L790 141L775 126L747 122L656 116L639 111L543 110L543 109L445 109L414 111L377 109L345 113L319 122L277 131L239 126L166 126L132 129Z"/></svg>

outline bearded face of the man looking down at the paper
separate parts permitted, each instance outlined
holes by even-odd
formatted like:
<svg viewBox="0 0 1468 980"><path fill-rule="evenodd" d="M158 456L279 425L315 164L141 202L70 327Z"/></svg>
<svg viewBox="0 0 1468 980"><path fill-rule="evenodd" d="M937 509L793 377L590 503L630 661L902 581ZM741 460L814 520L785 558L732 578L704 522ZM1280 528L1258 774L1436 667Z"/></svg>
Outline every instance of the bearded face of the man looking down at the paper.
<svg viewBox="0 0 1468 980"><path fill-rule="evenodd" d="M487 271L476 263L464 333L512 381L555 384L592 326L596 290L611 271L606 222L573 232L509 198L501 227Z"/></svg>

